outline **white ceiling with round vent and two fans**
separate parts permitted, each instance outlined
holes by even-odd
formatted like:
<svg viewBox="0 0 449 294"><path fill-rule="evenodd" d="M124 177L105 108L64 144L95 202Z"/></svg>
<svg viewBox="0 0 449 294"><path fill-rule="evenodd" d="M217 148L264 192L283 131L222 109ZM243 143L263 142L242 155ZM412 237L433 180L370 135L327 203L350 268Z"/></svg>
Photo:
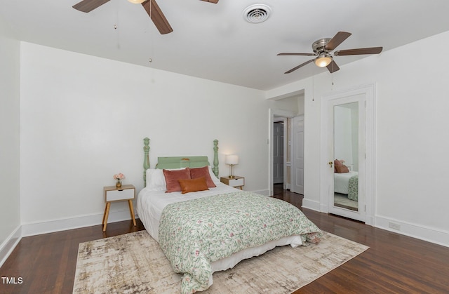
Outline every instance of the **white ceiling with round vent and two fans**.
<svg viewBox="0 0 449 294"><path fill-rule="evenodd" d="M261 90L327 72L310 63L283 74L311 57L276 54L311 53L312 42L338 31L352 33L338 50L387 51L449 30L447 0L156 1L173 27L170 34L159 34L144 8L126 0L91 13L72 8L79 0L0 0L0 23L22 41ZM269 19L246 22L243 11L252 4L270 6ZM445 45L429 48L429 57ZM345 63L366 56L335 62L341 72Z"/></svg>

